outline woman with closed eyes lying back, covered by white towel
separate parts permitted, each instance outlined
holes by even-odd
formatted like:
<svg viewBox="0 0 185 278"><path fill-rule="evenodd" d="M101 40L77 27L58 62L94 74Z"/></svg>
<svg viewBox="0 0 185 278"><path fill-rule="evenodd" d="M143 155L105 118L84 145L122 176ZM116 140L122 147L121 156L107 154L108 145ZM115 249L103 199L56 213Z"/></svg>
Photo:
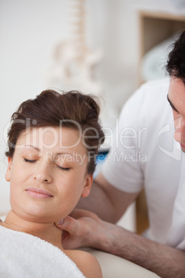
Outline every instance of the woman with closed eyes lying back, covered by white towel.
<svg viewBox="0 0 185 278"><path fill-rule="evenodd" d="M104 142L98 115L89 95L52 90L12 115L6 151L12 210L0 223L0 277L102 277L93 255L64 250L55 226L90 193Z"/></svg>

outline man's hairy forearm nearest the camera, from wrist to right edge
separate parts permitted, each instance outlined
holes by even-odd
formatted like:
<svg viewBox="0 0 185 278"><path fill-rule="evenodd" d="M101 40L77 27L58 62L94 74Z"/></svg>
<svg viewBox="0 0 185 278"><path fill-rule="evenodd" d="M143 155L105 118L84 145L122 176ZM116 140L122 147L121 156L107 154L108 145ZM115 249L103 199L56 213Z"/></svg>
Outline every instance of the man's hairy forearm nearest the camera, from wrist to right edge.
<svg viewBox="0 0 185 278"><path fill-rule="evenodd" d="M95 248L137 263L160 277L185 277L184 251L150 241L119 226L102 223L104 228L95 240Z"/></svg>

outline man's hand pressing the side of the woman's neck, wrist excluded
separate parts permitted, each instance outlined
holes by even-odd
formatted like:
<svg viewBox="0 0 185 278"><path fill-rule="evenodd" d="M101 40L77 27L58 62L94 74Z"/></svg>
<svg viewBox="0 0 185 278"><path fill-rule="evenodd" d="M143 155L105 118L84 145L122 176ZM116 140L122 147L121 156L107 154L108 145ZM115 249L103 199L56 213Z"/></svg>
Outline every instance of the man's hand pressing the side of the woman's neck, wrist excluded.
<svg viewBox="0 0 185 278"><path fill-rule="evenodd" d="M104 221L93 212L86 210L74 210L70 216L64 219L62 224L55 225L64 230L62 245L65 249L76 249L82 247L95 247L104 230Z"/></svg>

